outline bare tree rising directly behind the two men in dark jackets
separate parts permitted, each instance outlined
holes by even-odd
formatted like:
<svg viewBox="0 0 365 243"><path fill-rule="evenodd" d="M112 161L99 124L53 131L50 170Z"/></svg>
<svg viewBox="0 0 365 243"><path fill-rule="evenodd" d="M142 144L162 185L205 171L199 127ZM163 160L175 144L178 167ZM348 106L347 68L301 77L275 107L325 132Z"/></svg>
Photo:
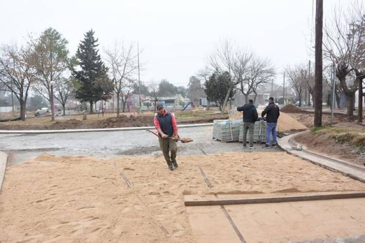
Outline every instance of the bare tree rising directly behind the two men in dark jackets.
<svg viewBox="0 0 365 243"><path fill-rule="evenodd" d="M245 95L246 104L251 93L255 94L254 104L257 97L257 87L272 83L275 77L275 68L269 58L262 58L257 55L250 57L248 69L241 79L241 92ZM247 88L245 88L247 87Z"/></svg>

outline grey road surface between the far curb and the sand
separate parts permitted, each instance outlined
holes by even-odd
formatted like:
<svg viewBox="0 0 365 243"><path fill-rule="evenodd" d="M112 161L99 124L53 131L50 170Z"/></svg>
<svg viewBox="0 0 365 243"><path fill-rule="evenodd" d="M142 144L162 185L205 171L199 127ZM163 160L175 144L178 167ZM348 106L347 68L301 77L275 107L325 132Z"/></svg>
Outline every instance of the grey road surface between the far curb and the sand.
<svg viewBox="0 0 365 243"><path fill-rule="evenodd" d="M179 134L181 137L190 137L194 141L186 144L179 143L178 155L202 155L201 149L206 154L279 151L279 149L265 149L264 144L256 145L256 150L249 150L242 149L241 143L216 141L212 139L213 126L180 128ZM9 155L9 166L41 153L99 157L161 154L158 139L143 130L28 135L0 134L0 151Z"/></svg>

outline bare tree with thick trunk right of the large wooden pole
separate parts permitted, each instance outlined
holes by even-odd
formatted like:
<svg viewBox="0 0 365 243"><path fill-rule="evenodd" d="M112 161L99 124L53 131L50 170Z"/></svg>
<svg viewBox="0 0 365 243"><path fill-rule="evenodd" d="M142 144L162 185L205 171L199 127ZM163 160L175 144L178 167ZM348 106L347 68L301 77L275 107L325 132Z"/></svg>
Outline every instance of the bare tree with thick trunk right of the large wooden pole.
<svg viewBox="0 0 365 243"><path fill-rule="evenodd" d="M341 8L334 9L334 17L324 28L323 42L324 55L336 65L336 76L347 98L348 121L354 121L353 108L355 92L358 89L358 79L348 80L346 77L354 70L359 70L359 65L364 59L365 49L361 42L365 37L364 9L358 2L353 2L346 11Z"/></svg>

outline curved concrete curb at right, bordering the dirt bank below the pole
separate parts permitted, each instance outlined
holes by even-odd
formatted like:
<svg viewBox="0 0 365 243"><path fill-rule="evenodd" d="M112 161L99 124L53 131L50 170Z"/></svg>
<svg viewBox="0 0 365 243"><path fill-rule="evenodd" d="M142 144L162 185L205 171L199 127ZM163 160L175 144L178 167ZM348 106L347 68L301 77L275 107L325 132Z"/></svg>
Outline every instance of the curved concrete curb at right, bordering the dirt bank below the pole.
<svg viewBox="0 0 365 243"><path fill-rule="evenodd" d="M352 179L365 183L365 169L351 165L346 161L332 158L329 156L323 156L312 151L297 151L292 150L290 139L299 133L294 133L284 138L278 139L278 146L286 151L288 154L300 157L301 159L307 160L315 165L321 166L329 171L338 172Z"/></svg>

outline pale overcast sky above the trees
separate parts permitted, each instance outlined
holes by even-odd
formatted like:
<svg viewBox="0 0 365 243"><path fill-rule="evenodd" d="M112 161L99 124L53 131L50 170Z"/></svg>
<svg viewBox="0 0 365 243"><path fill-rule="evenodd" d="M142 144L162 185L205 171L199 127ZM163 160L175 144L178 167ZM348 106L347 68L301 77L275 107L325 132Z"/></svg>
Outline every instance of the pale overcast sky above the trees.
<svg viewBox="0 0 365 243"><path fill-rule="evenodd" d="M20 43L28 33L52 27L74 54L92 28L100 49L115 40L139 42L142 81L165 78L186 86L207 54L228 38L271 58L281 82L283 67L308 63L313 1L0 0L0 44ZM349 0L324 0L325 17L338 3Z"/></svg>

